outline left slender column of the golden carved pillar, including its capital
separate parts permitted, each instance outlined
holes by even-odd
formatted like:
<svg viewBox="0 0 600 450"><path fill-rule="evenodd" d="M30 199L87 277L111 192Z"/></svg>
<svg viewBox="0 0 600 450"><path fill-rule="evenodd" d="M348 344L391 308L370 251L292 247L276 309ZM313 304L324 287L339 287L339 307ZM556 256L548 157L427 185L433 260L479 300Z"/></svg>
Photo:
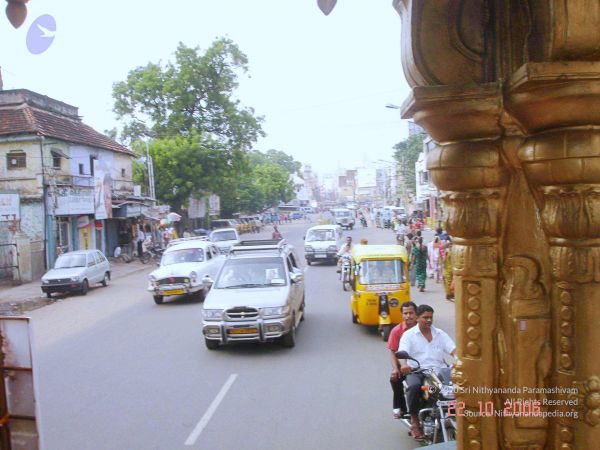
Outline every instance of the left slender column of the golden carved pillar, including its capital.
<svg viewBox="0 0 600 450"><path fill-rule="evenodd" d="M453 236L456 280L456 381L467 417L459 417L462 448L493 449L498 434L494 417L479 418L481 404L495 403L483 389L496 386L495 330L499 285L499 238L507 173L498 140L500 85L460 90L420 87L407 113L440 143L427 166L442 190L446 229ZM455 124L456 126L449 126Z"/></svg>

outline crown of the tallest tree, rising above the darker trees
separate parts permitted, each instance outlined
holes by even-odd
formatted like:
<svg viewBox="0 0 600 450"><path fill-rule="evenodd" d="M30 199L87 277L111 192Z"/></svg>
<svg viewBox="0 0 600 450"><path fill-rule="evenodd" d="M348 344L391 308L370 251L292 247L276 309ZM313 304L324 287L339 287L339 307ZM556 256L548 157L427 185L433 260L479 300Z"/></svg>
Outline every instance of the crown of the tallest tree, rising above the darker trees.
<svg viewBox="0 0 600 450"><path fill-rule="evenodd" d="M228 148L248 150L263 135L262 117L235 99L237 73L248 60L231 40L220 38L201 53L180 43L175 61L164 67L149 63L113 85L114 112L126 121L123 136L131 141L209 135Z"/></svg>

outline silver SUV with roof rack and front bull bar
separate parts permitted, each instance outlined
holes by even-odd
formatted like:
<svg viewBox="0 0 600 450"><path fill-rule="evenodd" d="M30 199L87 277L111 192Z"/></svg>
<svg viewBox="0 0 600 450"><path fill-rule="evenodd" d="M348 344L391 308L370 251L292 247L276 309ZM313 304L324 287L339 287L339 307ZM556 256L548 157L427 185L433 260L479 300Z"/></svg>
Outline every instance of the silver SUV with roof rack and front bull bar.
<svg viewBox="0 0 600 450"><path fill-rule="evenodd" d="M267 341L293 347L305 307L298 261L285 240L242 241L232 247L204 301L206 347Z"/></svg>

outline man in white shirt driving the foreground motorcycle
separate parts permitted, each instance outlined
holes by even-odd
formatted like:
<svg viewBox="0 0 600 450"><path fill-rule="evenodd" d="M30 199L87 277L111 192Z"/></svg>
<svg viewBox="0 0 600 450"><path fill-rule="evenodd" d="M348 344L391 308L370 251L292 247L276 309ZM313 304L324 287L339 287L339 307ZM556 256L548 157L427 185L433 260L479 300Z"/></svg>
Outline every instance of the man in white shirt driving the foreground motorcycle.
<svg viewBox="0 0 600 450"><path fill-rule="evenodd" d="M398 350L404 350L411 358L421 364L421 368L437 369L445 367L444 355L454 356L456 345L444 331L433 326L433 308L429 305L417 307L417 326L407 330L400 339ZM421 386L424 375L411 373L417 363L411 360L400 360L400 372L406 375L406 396L408 412L411 419L411 434L417 440L423 439L419 427L419 409L421 409Z"/></svg>

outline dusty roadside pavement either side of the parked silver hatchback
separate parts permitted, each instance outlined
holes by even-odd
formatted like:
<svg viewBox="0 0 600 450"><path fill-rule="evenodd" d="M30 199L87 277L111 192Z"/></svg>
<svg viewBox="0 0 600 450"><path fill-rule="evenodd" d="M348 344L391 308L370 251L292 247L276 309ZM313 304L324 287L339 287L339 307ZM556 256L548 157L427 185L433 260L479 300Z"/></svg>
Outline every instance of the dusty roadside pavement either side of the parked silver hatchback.
<svg viewBox="0 0 600 450"><path fill-rule="evenodd" d="M155 264L142 264L139 260L123 263L113 258L109 259L111 280L155 268ZM40 288L41 284L41 279L37 279L20 286L0 286L0 315L21 315L64 298L64 295L57 294L54 294L56 298L46 298L46 294Z"/></svg>

